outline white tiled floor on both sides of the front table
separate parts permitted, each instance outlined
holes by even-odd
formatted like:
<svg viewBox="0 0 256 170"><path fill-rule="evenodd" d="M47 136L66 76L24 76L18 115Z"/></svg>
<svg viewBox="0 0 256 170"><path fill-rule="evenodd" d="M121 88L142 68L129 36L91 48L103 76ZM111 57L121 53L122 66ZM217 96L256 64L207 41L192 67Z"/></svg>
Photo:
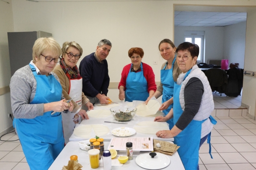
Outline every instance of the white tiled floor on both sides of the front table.
<svg viewBox="0 0 256 170"><path fill-rule="evenodd" d="M213 159L206 141L199 150L200 170L256 170L256 122L247 116L214 118L218 123L211 137ZM2 137L14 139L15 133ZM0 141L0 170L29 170L19 141Z"/></svg>

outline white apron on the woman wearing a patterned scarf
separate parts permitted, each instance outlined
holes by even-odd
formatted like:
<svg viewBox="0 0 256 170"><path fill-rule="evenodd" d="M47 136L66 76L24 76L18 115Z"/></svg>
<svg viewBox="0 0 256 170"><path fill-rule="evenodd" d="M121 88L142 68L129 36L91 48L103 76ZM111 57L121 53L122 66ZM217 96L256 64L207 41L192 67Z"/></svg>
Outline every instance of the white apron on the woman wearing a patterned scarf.
<svg viewBox="0 0 256 170"><path fill-rule="evenodd" d="M82 106L82 78L81 79L70 79L70 90L68 92L70 97L74 97L73 101L81 108ZM81 116L77 113L68 111L67 113L61 112L62 115L62 124L65 144L69 142L70 136L73 134L73 130L76 127L76 124L81 123Z"/></svg>

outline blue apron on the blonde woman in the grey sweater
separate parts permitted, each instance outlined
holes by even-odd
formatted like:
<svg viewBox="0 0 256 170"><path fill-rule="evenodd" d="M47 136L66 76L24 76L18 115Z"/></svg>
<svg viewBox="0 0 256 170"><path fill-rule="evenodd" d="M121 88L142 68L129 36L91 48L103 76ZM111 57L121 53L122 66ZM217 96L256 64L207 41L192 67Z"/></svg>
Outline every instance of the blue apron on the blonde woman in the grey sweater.
<svg viewBox="0 0 256 170"><path fill-rule="evenodd" d="M35 76L37 87L35 98L29 104L57 102L61 100L61 84L53 75L38 75L29 64ZM48 170L64 148L61 113L51 111L34 119L14 119L23 152L30 170Z"/></svg>

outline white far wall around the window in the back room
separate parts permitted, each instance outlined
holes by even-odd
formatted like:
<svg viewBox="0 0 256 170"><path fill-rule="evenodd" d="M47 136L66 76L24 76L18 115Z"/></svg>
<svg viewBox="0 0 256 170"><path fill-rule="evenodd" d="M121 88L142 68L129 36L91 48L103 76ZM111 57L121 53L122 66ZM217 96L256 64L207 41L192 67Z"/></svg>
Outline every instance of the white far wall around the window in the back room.
<svg viewBox="0 0 256 170"><path fill-rule="evenodd" d="M174 43L176 47L184 42L185 31L205 31L205 63L208 63L209 59L223 59L224 27L175 26Z"/></svg>

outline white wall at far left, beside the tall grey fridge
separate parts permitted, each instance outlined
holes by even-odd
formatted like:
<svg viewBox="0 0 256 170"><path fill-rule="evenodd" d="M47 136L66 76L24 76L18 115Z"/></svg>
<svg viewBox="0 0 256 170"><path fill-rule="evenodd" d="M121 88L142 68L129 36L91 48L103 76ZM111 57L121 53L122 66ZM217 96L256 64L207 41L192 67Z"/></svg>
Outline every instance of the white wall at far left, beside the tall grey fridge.
<svg viewBox="0 0 256 170"><path fill-rule="evenodd" d="M11 68L7 32L14 31L12 19L12 2L0 1L0 88L9 86ZM10 93L0 95L0 133L12 126L12 119L7 114L11 113Z"/></svg>

